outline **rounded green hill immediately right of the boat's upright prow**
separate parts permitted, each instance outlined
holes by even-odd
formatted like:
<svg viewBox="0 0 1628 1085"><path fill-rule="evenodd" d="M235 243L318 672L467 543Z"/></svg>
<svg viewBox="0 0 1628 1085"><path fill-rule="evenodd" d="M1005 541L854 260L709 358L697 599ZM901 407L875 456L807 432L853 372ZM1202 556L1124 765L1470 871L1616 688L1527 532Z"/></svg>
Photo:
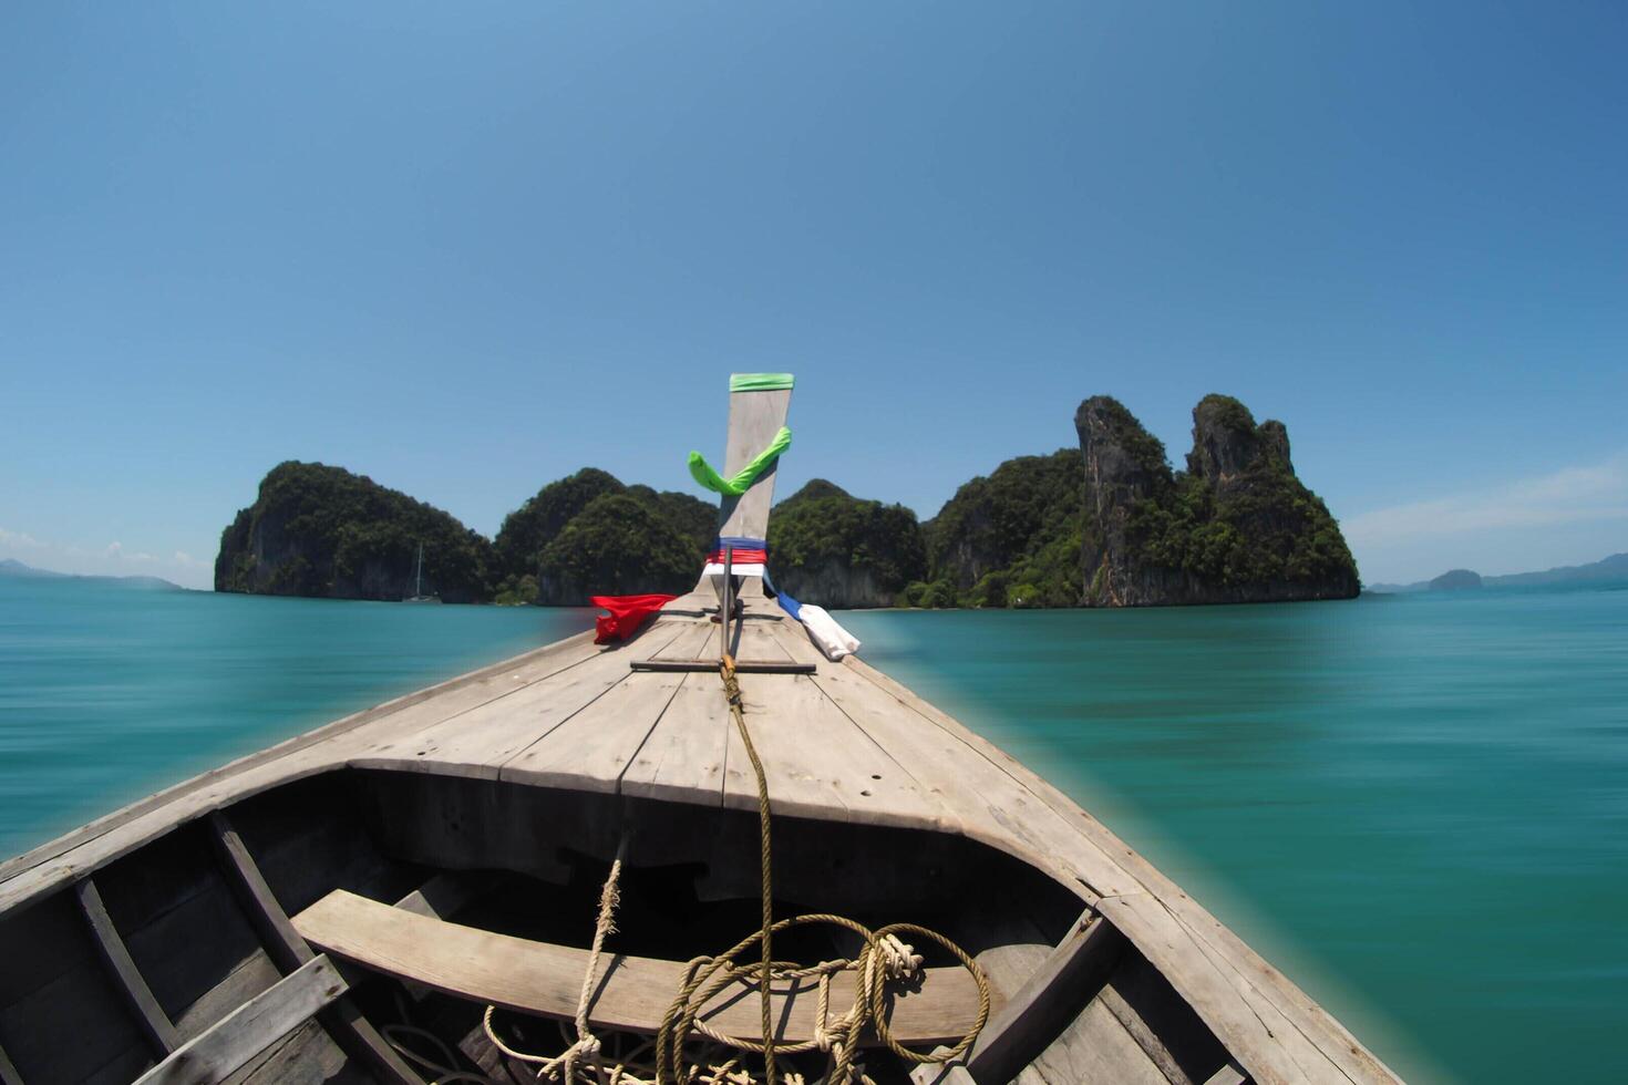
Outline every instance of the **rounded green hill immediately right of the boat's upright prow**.
<svg viewBox="0 0 1628 1085"><path fill-rule="evenodd" d="M892 607L926 574L926 548L910 509L861 501L816 478L768 517L768 573L799 602Z"/></svg>

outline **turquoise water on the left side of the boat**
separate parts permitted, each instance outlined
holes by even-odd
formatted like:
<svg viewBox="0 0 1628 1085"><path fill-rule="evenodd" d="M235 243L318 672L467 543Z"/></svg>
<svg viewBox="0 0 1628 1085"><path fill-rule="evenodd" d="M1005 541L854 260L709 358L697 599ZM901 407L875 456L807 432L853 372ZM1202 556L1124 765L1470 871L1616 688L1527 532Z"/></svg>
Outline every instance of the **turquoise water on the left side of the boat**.
<svg viewBox="0 0 1628 1085"><path fill-rule="evenodd" d="M0 576L0 857L591 625L589 610Z"/></svg>

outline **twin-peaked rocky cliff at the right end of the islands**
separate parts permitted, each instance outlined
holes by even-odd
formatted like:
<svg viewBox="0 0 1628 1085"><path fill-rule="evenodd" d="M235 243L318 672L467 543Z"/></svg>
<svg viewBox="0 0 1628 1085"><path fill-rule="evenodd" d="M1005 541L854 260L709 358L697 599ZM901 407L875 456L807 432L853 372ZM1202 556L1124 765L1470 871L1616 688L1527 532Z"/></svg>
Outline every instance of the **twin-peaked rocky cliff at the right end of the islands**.
<svg viewBox="0 0 1628 1085"><path fill-rule="evenodd" d="M1294 475L1283 423L1206 395L1187 470L1117 400L1074 415L1084 457L1081 574L1088 607L1353 599L1356 561Z"/></svg>

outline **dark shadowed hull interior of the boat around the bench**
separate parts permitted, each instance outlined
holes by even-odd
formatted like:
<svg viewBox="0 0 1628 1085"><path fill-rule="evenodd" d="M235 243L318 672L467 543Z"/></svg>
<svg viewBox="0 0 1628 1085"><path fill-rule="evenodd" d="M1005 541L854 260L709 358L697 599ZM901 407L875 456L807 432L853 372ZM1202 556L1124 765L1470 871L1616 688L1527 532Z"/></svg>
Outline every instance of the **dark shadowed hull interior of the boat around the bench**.
<svg viewBox="0 0 1628 1085"><path fill-rule="evenodd" d="M324 773L181 823L94 872L117 940L182 1043L296 965L278 940L277 917L265 914L267 901L244 887L223 831L264 878L270 911L285 917L335 890L396 904L423 887L456 883L456 903L438 913L443 921L588 948L601 887L625 834L609 952L685 961L721 952L759 926L755 812L433 773ZM939 930L987 971L996 1009L1083 917L1073 887L965 836L920 828L777 817L773 878L777 917L840 913L869 927L913 922ZM129 1082L161 1061L161 1043L103 940L80 888L0 924L0 1048L20 1082ZM796 927L777 939L775 955L816 963L856 948L858 937L843 930ZM931 966L956 965L936 947L918 950ZM428 1064L531 1080L534 1070L487 1039L484 1005L366 965L340 968L348 1012L404 1048L425 1080L435 1077ZM1076 1005L1053 1015L1057 1026L1031 1038L1032 1051L1014 1067L1021 1080L1206 1082L1228 1065L1223 1044L1123 939L1070 997ZM498 1026L542 1052L570 1041L542 1017L505 1012ZM864 1065L877 1082L908 1080L912 1069L881 1048L866 1051ZM1127 1077L1127 1067L1140 1077ZM807 1069L817 1074L819 1061ZM391 1074L357 1043L344 1012L329 1007L231 1080Z"/></svg>

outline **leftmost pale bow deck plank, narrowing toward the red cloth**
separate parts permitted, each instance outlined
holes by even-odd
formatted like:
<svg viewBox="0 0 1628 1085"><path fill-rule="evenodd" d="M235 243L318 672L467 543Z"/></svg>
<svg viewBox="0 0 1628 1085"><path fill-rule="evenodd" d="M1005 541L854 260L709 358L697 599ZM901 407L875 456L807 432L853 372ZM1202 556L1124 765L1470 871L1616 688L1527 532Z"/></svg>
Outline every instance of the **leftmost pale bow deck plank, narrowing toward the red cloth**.
<svg viewBox="0 0 1628 1085"><path fill-rule="evenodd" d="M397 734L350 756L357 768L498 779L503 765L620 683L630 659L666 647L689 621L658 623L624 649L594 656L508 696L414 734Z"/></svg>

